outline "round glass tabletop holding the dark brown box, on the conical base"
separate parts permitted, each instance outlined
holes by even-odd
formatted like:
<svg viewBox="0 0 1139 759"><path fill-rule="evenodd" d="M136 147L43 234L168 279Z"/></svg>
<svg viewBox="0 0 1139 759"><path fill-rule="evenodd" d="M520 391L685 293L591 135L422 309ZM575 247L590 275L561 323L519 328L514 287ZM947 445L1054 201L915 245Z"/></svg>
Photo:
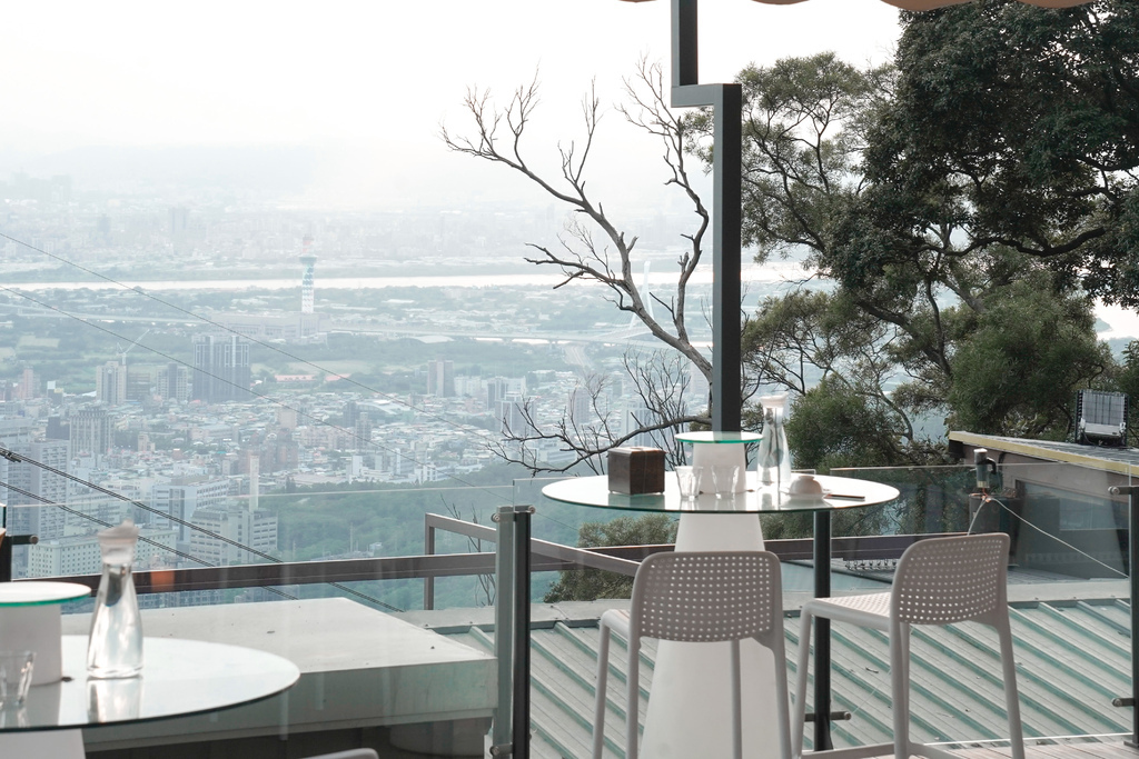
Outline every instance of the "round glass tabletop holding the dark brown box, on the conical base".
<svg viewBox="0 0 1139 759"><path fill-rule="evenodd" d="M542 495L563 503L598 509L704 514L769 514L851 509L886 503L899 496L898 488L880 482L847 477L816 476L814 479L822 485L822 496L793 496L780 493L771 485L761 486L756 472L747 473L746 492L727 494L723 497L705 493L696 498L682 500L672 472L665 473L664 493L642 495L613 493L609 490L608 477L603 475L572 477L551 482L542 488Z"/></svg>

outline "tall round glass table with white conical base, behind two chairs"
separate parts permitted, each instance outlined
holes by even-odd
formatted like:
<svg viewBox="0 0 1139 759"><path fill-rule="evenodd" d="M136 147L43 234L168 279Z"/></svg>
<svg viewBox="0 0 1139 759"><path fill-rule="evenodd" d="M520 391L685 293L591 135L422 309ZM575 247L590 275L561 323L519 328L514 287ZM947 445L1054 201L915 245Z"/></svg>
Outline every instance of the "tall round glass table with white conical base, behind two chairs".
<svg viewBox="0 0 1139 759"><path fill-rule="evenodd" d="M715 435L715 434L710 434ZM722 434L721 434L722 435ZM739 434L732 434L738 436ZM679 437L679 436L678 436ZM693 440L721 443L721 440ZM743 443L743 440L723 440ZM697 445L700 449L741 449L741 445ZM802 476L793 477L792 485ZM762 551L760 514L814 512L816 595L829 595L830 522L836 510L887 503L898 488L845 477L814 477L822 495L794 496L775 485L761 485L757 472L748 472L740 492L718 497L702 493L683 500L672 472L664 493L625 495L611 493L608 478L579 477L551 482L542 495L554 501L623 512L664 512L680 517L677 551ZM817 628L816 671L829 673L829 628ZM731 756L729 687L730 649L727 643L677 643L657 646L652 695L645 719L641 756ZM779 741L768 716L776 715L775 666L771 652L755 642L740 646L743 710L753 718L744 724L744 756L776 759ZM780 662L780 666L784 666ZM817 686L822 687L817 680ZM829 678L825 692L817 688L817 708L829 712Z"/></svg>

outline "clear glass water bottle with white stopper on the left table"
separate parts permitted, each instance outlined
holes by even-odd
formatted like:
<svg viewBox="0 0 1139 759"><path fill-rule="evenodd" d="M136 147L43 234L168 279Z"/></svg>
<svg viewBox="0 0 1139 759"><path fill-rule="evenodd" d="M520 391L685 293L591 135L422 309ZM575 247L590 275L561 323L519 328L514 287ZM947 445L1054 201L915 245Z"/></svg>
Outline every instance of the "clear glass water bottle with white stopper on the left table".
<svg viewBox="0 0 1139 759"><path fill-rule="evenodd" d="M142 620L131 576L138 537L130 519L99 533L103 577L87 646L90 678L136 677L142 671Z"/></svg>

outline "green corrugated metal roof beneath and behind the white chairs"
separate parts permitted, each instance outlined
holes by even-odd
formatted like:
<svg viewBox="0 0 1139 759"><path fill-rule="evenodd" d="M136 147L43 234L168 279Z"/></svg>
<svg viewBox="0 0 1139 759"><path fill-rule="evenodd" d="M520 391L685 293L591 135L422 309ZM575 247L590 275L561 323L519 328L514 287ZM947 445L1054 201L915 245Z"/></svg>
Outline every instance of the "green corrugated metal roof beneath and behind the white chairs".
<svg viewBox="0 0 1139 759"><path fill-rule="evenodd" d="M1112 707L1130 692L1130 607L1120 583L1042 584L1039 575L1010 586L1021 710L1026 737L1098 735L1131 729L1131 710ZM801 594L785 603L797 607ZM579 759L590 752L593 683L597 667L597 618L621 602L535 604L532 630L533 754ZM490 651L493 634L452 612L421 612L416 621L437 627ZM450 616L450 617L449 617ZM433 624L433 617L439 618ZM468 614L469 617L469 614ZM482 619L477 620L482 621ZM836 723L835 745L882 743L891 737L890 673L885 636L834 626L834 700L853 713ZM797 608L786 614L788 678L794 683L798 644ZM923 742L969 741L1007 736L995 634L972 625L916 630L911 666L912 731ZM652 698L654 642L642 649L641 682ZM607 717L606 756L623 757L625 653L614 646ZM647 700L641 701L644 723ZM808 731L810 735L810 731Z"/></svg>

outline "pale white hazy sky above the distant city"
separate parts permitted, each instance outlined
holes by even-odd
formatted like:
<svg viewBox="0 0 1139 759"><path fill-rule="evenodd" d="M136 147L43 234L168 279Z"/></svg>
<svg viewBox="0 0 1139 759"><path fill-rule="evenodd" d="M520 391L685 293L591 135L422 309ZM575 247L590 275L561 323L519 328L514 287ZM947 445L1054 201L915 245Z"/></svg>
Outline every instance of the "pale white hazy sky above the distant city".
<svg viewBox="0 0 1139 759"><path fill-rule="evenodd" d="M89 146L311 146L323 162L316 193L409 205L519 191L439 140L444 119L464 129L468 86L508 97L539 72L533 147L548 150L575 133L591 80L603 104L620 100L640 56L667 64L670 34L667 0L49 0L7 3L0 20L9 164ZM898 11L704 0L700 33L700 80L730 81L751 61L821 50L883 61ZM604 127L599 163L639 175L655 160L655 143L616 114Z"/></svg>

